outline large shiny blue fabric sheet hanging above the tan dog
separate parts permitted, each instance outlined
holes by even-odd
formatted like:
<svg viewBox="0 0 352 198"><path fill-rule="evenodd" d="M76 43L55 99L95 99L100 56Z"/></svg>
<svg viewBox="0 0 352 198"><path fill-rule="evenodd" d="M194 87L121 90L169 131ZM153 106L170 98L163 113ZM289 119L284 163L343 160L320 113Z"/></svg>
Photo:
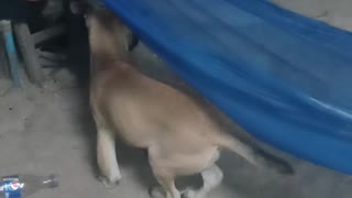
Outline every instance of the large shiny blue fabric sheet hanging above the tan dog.
<svg viewBox="0 0 352 198"><path fill-rule="evenodd" d="M250 133L352 173L352 34L264 0L105 0Z"/></svg>

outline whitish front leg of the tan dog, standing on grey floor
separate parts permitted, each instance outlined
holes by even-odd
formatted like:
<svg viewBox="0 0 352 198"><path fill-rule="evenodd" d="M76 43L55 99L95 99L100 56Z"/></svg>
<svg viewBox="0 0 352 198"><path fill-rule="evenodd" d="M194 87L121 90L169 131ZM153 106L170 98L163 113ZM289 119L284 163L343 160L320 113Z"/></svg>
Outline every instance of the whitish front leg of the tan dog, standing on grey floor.
<svg viewBox="0 0 352 198"><path fill-rule="evenodd" d="M102 176L101 182L107 188L113 188L121 179L117 160L114 134L110 130L98 127L97 158Z"/></svg>

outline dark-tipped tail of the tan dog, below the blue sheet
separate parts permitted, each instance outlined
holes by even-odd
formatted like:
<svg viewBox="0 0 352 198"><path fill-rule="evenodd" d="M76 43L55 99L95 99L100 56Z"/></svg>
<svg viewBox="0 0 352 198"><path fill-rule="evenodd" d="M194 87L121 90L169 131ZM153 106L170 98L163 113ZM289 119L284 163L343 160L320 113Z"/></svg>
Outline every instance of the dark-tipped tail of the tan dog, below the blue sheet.
<svg viewBox="0 0 352 198"><path fill-rule="evenodd" d="M293 167L287 162L262 148L253 148L230 134L222 134L218 138L219 146L239 154L254 166L272 168L280 174L294 174Z"/></svg>

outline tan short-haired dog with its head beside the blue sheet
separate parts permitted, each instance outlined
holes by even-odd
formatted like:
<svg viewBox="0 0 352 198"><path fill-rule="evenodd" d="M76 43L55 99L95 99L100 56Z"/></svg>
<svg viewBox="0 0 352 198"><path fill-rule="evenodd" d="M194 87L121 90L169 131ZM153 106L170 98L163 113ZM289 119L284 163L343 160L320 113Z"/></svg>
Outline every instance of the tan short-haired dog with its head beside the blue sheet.
<svg viewBox="0 0 352 198"><path fill-rule="evenodd" d="M131 32L111 12L87 15L91 52L90 105L98 130L98 165L106 184L121 179L114 136L147 150L153 173L167 198L180 198L177 176L201 173L204 187L186 197L205 197L222 179L215 164L229 148L256 166L282 172L290 167L268 161L222 132L209 114L183 92L142 75L129 58ZM273 157L272 157L273 160Z"/></svg>

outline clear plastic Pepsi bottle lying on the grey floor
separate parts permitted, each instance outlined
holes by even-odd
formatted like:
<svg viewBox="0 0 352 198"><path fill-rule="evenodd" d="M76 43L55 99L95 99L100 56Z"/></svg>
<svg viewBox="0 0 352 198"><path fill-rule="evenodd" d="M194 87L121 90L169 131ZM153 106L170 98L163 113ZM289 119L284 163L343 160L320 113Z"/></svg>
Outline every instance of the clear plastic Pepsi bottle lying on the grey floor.
<svg viewBox="0 0 352 198"><path fill-rule="evenodd" d="M1 178L0 198L21 198L28 197L41 189L55 188L58 186L56 175L35 176L15 175Z"/></svg>

